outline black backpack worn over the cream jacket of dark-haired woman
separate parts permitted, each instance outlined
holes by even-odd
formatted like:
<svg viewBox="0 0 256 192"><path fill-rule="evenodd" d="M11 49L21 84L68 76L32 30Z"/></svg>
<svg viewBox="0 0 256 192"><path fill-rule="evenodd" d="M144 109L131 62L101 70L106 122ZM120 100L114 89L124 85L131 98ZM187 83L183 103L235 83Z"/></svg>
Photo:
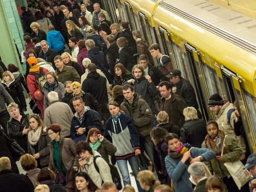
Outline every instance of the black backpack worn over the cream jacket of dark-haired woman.
<svg viewBox="0 0 256 192"><path fill-rule="evenodd" d="M97 159L98 157L101 157L101 156L99 156L99 155L94 156L93 164L94 164L94 167L95 167L96 171L97 171L98 173L100 173L99 167L98 167L98 165L96 164L96 159ZM101 157L101 158L102 158L102 157ZM102 159L104 159L104 158L102 158ZM116 184L116 188L117 188L118 190L121 190L121 189L122 189L122 182L121 182L121 178L120 178L120 175L119 175L119 173L118 173L117 168L116 168L114 165L109 164L108 162L107 162L107 164L108 164L108 166L109 166L109 168L110 168L110 173L111 173L111 177L112 177L113 183Z"/></svg>

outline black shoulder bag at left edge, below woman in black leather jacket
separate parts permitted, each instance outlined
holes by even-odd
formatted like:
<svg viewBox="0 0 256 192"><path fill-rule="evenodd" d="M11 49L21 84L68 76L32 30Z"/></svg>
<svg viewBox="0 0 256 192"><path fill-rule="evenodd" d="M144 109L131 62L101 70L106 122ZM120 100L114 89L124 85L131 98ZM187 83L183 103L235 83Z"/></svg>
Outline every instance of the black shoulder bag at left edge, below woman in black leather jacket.
<svg viewBox="0 0 256 192"><path fill-rule="evenodd" d="M12 157L14 159L14 162L20 160L20 157L24 154L26 154L25 150L19 146L16 142L14 142L9 136L7 136L4 132L4 137L7 140L10 152L12 154Z"/></svg>

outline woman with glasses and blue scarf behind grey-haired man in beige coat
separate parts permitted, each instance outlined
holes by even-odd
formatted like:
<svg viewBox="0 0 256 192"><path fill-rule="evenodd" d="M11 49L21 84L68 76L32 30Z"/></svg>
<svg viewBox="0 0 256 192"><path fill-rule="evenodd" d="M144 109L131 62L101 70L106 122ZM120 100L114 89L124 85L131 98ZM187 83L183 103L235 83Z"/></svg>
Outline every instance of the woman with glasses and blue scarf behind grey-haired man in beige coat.
<svg viewBox="0 0 256 192"><path fill-rule="evenodd" d="M48 93L51 91L55 91L58 93L59 101L64 97L65 88L64 84L58 82L58 76L55 72L48 72L45 75L47 83L44 84L44 110L50 106L50 102L48 100Z"/></svg>

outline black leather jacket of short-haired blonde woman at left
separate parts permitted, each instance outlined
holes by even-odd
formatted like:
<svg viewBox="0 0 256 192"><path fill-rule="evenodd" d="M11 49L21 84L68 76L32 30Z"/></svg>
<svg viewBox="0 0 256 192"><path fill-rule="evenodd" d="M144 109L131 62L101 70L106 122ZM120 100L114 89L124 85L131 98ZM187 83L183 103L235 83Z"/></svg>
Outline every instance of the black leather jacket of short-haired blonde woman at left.
<svg viewBox="0 0 256 192"><path fill-rule="evenodd" d="M14 118L11 118L7 122L7 131L8 135L17 143L19 144L26 152L28 151L28 142L27 142L27 135L22 134L22 131L24 129L24 126L26 128L29 127L28 124L28 115L21 114L22 118L20 122Z"/></svg>

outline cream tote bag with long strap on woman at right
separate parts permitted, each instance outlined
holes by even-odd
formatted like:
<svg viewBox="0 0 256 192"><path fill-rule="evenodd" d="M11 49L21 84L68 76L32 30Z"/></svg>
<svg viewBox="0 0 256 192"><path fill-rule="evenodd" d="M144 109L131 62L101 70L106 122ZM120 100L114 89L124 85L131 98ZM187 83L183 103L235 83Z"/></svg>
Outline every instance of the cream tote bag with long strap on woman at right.
<svg viewBox="0 0 256 192"><path fill-rule="evenodd" d="M225 139L226 135L223 140L221 156L223 154ZM244 164L242 164L240 160L235 162L224 162L224 166L227 168L239 190L252 178L252 174L250 174L250 172L244 167Z"/></svg>

